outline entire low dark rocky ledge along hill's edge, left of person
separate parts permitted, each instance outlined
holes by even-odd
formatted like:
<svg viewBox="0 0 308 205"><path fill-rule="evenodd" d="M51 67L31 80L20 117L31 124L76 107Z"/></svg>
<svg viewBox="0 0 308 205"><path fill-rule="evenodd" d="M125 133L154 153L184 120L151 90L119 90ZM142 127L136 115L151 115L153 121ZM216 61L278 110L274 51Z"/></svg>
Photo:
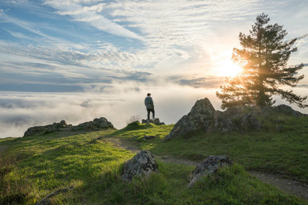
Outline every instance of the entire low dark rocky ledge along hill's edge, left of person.
<svg viewBox="0 0 308 205"><path fill-rule="evenodd" d="M77 126L73 126L71 124L66 124L65 120L61 120L61 122L54 122L53 124L48 124L45 126L33 126L25 131L23 137L28 137L31 135L36 135L40 133L49 133L55 131L77 131L77 130L99 130L99 129L107 129L114 128L111 122L108 122L106 118L95 118L93 121L84 122Z"/></svg>

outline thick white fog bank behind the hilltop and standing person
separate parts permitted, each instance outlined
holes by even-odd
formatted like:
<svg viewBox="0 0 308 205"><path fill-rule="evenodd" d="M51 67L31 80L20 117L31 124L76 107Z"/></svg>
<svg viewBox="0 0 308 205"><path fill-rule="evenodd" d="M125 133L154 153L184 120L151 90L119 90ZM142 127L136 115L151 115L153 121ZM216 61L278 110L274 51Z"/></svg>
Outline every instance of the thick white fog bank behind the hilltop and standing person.
<svg viewBox="0 0 308 205"><path fill-rule="evenodd" d="M175 124L198 99L207 97L215 109L220 109L220 100L215 95L217 90L170 86L105 93L0 92L0 138L22 137L30 126L52 124L60 120L77 125L105 117L116 128L123 128L131 115L146 118L144 98L148 92L152 93L156 117L166 124ZM307 95L308 89L296 88L296 93ZM277 98L277 104L281 103L287 104ZM292 107L308 113L308 108Z"/></svg>

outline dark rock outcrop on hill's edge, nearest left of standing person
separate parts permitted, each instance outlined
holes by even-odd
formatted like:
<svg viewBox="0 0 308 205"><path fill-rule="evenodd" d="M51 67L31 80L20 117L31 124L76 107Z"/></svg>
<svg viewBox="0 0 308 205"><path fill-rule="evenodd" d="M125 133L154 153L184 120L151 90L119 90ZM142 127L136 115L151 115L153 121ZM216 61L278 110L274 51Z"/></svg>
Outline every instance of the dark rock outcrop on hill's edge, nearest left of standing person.
<svg viewBox="0 0 308 205"><path fill-rule="evenodd" d="M106 118L95 118L93 121L84 122L73 126L72 130L95 130L95 129L107 129L114 128L114 125Z"/></svg>

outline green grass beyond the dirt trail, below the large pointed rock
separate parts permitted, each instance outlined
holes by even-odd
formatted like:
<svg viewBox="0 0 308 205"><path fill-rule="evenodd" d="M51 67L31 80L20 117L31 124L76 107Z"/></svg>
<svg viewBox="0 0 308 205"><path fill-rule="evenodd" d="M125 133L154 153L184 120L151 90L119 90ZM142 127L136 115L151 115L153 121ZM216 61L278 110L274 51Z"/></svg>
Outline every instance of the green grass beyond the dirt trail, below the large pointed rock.
<svg viewBox="0 0 308 205"><path fill-rule="evenodd" d="M181 158L200 160L200 156L210 154L226 154L233 161L240 163L248 170L285 174L308 182L308 120L273 116L283 121L283 131L277 131L273 119L264 120L261 131L202 133L181 136L166 143L162 139L172 129L168 126L141 125L136 130L116 131L112 135L131 141L142 150L151 150L161 156L172 155ZM265 121L266 120L266 121ZM155 139L146 141L144 135L156 135Z"/></svg>

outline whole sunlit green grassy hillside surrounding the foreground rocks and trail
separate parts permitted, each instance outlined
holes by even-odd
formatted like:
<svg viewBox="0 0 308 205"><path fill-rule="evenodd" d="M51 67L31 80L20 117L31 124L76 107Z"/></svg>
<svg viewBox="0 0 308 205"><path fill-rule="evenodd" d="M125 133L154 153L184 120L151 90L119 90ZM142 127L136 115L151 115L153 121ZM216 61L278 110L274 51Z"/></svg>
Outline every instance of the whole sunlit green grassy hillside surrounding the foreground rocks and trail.
<svg viewBox="0 0 308 205"><path fill-rule="evenodd" d="M73 184L52 204L307 204L246 172L281 172L307 182L307 118L296 120L283 133L269 125L261 132L195 133L166 143L161 139L172 125L1 139L0 204L34 204ZM157 137L145 141L144 135ZM134 153L102 136L125 139L156 156L201 160L200 154L228 154L235 165L188 188L194 166L158 161L159 173L125 183L120 173Z"/></svg>

